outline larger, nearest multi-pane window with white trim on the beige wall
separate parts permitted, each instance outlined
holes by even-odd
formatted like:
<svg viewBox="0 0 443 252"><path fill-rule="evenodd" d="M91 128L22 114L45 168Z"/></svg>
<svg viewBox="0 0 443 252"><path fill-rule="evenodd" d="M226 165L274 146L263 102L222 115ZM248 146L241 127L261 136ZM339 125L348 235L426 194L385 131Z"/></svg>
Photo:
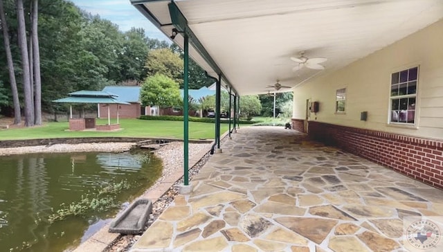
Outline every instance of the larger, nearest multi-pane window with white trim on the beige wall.
<svg viewBox="0 0 443 252"><path fill-rule="evenodd" d="M413 125L417 100L418 66L392 73L390 81L390 123Z"/></svg>

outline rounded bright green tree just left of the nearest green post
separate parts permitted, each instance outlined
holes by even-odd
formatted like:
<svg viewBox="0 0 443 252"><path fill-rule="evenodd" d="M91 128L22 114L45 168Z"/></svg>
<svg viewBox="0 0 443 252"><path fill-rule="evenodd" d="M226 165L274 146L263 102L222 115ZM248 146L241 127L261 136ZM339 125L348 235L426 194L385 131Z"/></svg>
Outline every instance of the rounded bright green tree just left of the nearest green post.
<svg viewBox="0 0 443 252"><path fill-rule="evenodd" d="M161 73L148 77L141 87L140 100L144 106L159 108L181 105L179 84Z"/></svg>

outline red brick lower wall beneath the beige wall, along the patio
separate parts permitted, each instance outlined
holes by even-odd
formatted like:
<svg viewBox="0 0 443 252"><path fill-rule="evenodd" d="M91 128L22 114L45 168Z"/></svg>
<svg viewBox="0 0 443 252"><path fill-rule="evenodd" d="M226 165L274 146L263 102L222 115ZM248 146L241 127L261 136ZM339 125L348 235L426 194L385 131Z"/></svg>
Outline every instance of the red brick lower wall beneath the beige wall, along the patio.
<svg viewBox="0 0 443 252"><path fill-rule="evenodd" d="M443 188L443 141L313 121L308 136Z"/></svg>

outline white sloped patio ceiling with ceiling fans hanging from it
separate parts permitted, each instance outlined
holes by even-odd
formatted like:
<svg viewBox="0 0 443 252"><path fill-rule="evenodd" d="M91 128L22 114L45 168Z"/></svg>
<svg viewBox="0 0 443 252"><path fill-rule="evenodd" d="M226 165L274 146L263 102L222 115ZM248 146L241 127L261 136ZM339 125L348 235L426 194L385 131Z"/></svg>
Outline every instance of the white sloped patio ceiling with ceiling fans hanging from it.
<svg viewBox="0 0 443 252"><path fill-rule="evenodd" d="M171 35L168 3L143 1ZM443 18L443 0L183 0L188 26L240 95L296 87L327 75ZM443 32L443 31L442 31ZM183 37L175 42L182 46ZM442 42L443 43L443 42ZM327 57L325 70L292 71L289 57ZM215 73L197 51L191 56ZM273 90L271 90L273 91ZM280 89L280 91L285 91ZM287 89L286 89L287 91Z"/></svg>

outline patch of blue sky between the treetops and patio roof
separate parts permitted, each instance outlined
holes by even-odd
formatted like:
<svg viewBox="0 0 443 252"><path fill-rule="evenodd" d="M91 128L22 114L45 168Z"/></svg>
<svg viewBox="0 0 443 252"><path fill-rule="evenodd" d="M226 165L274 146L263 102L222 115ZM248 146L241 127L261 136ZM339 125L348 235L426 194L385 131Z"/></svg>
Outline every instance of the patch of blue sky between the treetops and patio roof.
<svg viewBox="0 0 443 252"><path fill-rule="evenodd" d="M145 16L141 14L129 0L70 0L82 10L100 15L118 25L121 31L132 27L144 28L147 37L168 40Z"/></svg>

